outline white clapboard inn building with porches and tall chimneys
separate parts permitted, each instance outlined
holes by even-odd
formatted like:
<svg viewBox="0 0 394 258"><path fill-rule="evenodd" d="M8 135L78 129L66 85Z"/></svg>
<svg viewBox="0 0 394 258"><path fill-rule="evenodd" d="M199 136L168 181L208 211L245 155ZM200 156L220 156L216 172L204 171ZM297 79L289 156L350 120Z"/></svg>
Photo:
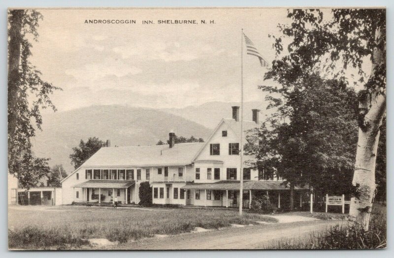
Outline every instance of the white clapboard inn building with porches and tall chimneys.
<svg viewBox="0 0 394 258"><path fill-rule="evenodd" d="M253 121L243 122L245 131L260 126L259 110L252 112ZM139 185L148 181L154 204L237 207L239 120L239 107L232 107L232 119L223 118L205 143L174 144L175 134L169 133L169 145L108 144L62 181L62 202L138 203ZM251 158L245 155L243 160ZM253 196L261 191L278 207L287 205L290 189L275 175L244 168L243 180L244 207L250 207ZM299 205L307 190L307 186L296 187Z"/></svg>

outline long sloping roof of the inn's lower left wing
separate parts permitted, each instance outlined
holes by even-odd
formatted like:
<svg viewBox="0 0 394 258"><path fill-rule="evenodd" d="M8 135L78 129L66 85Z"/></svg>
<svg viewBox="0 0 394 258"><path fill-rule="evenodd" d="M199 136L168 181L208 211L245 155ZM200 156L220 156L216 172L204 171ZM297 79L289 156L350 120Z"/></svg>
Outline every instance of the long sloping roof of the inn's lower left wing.
<svg viewBox="0 0 394 258"><path fill-rule="evenodd" d="M167 166L191 164L193 157L203 143L135 146L135 147L102 147L81 167L112 166Z"/></svg>

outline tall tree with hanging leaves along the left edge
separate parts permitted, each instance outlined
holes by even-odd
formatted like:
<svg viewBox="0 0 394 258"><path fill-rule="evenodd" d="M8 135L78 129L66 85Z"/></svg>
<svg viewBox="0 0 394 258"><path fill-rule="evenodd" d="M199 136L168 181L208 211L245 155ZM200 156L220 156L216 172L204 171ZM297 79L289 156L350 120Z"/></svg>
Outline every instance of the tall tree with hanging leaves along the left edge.
<svg viewBox="0 0 394 258"><path fill-rule="evenodd" d="M8 11L8 171L25 188L49 173L48 159L33 156L31 138L36 128L41 130L40 109L56 111L49 95L60 89L43 81L29 62L32 43L28 38L37 41L40 19L42 15L35 10Z"/></svg>

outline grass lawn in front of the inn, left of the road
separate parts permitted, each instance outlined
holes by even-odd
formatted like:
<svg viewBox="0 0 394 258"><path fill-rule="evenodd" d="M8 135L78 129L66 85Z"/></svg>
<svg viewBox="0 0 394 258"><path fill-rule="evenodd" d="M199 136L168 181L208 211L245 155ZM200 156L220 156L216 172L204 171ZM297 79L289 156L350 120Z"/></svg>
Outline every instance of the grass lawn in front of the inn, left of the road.
<svg viewBox="0 0 394 258"><path fill-rule="evenodd" d="M195 227L220 228L256 221L260 214L209 209L114 209L62 206L8 209L8 246L15 249L69 249L90 238L127 242L155 234L179 234Z"/></svg>

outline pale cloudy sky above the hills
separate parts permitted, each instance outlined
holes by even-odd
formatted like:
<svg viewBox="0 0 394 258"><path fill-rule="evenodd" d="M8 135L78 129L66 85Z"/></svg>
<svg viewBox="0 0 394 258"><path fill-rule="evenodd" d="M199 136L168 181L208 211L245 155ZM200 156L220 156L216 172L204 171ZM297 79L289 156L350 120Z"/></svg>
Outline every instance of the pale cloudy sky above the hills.
<svg viewBox="0 0 394 258"><path fill-rule="evenodd" d="M59 111L91 105L182 108L240 100L241 28L268 61L286 9L41 9L32 63L62 87ZM136 24L85 24L127 19ZM197 20L197 25L157 24ZM155 24L143 25L143 20ZM200 24L206 20L207 24ZM214 24L209 21L214 20ZM245 101L263 99L265 68L244 55Z"/></svg>

